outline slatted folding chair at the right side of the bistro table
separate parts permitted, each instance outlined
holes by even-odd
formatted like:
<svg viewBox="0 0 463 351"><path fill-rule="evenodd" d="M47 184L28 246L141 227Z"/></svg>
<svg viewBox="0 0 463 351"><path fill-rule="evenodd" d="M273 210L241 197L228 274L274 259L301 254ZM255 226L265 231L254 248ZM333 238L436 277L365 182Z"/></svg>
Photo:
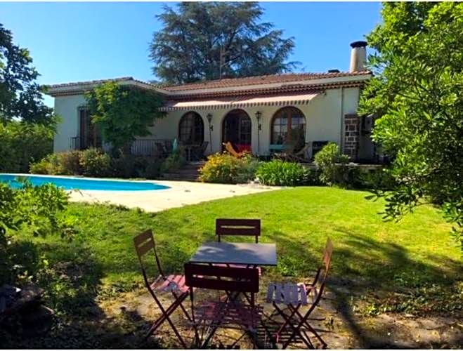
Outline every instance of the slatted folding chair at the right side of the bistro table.
<svg viewBox="0 0 463 351"><path fill-rule="evenodd" d="M330 239L327 239L325 250L323 251L322 264L318 267L313 282L304 284L294 283L271 283L267 290L267 303L272 303L275 311L280 314L285 322L278 328L275 333L277 343L282 343L286 348L289 343L299 337L307 347L314 348L310 338L302 327L313 333L322 344L323 348L327 347L325 341L308 323L311 313L320 303L325 284L330 270L333 245ZM285 312L279 305L286 305L289 313ZM306 314L301 314L302 306L310 305ZM272 316L270 316L271 319ZM289 331L289 333L288 333Z"/></svg>

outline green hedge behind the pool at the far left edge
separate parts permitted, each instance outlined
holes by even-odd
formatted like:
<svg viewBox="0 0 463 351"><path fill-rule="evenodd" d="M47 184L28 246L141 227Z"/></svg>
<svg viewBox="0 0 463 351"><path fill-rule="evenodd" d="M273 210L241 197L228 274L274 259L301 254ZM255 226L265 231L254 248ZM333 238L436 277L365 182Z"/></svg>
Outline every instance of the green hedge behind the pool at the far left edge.
<svg viewBox="0 0 463 351"><path fill-rule="evenodd" d="M0 123L0 172L27 173L30 162L53 150L54 125Z"/></svg>

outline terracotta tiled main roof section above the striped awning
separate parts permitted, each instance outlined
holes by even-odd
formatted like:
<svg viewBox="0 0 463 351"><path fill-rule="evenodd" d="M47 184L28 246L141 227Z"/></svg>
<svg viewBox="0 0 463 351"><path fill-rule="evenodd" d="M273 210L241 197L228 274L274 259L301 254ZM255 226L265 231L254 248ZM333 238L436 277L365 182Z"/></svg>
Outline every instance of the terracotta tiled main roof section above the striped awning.
<svg viewBox="0 0 463 351"><path fill-rule="evenodd" d="M159 88L163 88L167 91L188 91L206 88L231 88L233 86L248 86L256 84L288 83L291 81L306 81L310 79L351 77L365 74L370 74L370 72L287 73L244 78L217 79L214 81L202 81L197 83L172 86L158 86Z"/></svg>

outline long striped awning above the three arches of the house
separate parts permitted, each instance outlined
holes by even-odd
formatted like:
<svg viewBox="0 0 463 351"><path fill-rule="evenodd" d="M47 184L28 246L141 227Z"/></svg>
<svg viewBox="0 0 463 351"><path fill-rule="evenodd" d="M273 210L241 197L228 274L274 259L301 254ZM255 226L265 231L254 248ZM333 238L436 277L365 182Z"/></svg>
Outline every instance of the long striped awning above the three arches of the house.
<svg viewBox="0 0 463 351"><path fill-rule="evenodd" d="M167 101L161 111L178 110L218 110L253 106L286 106L307 105L321 91L306 91L305 93L285 93L278 95L247 95L231 96L215 99Z"/></svg>

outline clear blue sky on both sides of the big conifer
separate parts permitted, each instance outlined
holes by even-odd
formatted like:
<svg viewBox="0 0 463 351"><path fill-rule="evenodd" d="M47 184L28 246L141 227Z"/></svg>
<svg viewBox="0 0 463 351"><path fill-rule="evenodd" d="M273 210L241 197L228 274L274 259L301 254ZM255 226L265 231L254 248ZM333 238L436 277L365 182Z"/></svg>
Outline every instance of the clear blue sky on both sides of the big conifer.
<svg viewBox="0 0 463 351"><path fill-rule="evenodd" d="M42 84L132 76L155 79L148 60L166 3L0 3L0 22L28 48ZM170 4L174 5L174 4ZM380 22L379 3L261 3L262 20L294 37L299 70L348 69L351 41ZM51 99L46 99L50 104Z"/></svg>

